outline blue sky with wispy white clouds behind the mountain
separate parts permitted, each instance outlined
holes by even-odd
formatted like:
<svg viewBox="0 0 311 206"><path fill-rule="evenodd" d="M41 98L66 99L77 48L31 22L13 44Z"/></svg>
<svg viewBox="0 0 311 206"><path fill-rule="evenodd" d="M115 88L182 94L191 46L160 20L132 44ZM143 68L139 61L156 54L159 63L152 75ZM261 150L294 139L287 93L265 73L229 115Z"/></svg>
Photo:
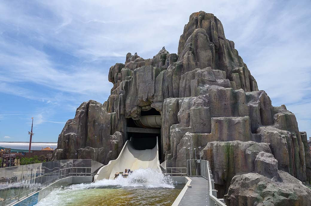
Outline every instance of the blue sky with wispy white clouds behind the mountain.
<svg viewBox="0 0 311 206"><path fill-rule="evenodd" d="M189 15L215 14L274 106L311 136L311 1L1 1L0 141L57 141L84 101L107 100L128 52L177 53Z"/></svg>

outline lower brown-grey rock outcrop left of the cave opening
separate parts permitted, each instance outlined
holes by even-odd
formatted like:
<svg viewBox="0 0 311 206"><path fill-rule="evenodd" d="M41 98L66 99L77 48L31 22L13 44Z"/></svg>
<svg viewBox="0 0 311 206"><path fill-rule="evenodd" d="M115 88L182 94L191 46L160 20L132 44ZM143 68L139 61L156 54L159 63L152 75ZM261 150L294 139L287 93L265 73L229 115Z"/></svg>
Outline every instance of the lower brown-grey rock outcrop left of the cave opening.
<svg viewBox="0 0 311 206"><path fill-rule="evenodd" d="M123 147L120 132L111 132L112 114L94 100L84 102L58 137L54 159L93 159L107 164Z"/></svg>

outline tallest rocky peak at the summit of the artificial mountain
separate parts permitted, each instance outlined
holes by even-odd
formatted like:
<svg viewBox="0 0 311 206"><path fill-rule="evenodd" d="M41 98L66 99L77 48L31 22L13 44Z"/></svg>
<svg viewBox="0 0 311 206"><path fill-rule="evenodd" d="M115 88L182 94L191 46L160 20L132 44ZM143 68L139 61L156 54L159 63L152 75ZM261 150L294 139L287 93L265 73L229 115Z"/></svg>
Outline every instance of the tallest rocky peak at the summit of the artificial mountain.
<svg viewBox="0 0 311 206"><path fill-rule="evenodd" d="M227 79L231 81L235 81L234 76L231 76L236 73L233 70L245 67L247 71L242 75L256 84L234 48L234 42L225 38L223 26L213 14L199 11L190 15L179 39L178 54L179 60L183 60L189 69L211 66L213 69L225 71ZM256 87L257 84L253 88Z"/></svg>

